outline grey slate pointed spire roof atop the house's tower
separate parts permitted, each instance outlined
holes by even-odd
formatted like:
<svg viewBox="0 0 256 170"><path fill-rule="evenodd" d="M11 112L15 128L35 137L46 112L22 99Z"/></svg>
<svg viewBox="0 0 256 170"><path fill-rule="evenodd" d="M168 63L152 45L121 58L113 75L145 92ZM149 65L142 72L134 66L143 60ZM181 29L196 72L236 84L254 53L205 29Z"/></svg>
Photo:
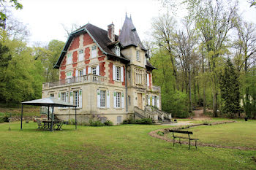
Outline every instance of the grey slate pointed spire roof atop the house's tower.
<svg viewBox="0 0 256 170"><path fill-rule="evenodd" d="M124 20L124 25L121 28L121 33L118 37L118 40L124 47L134 45L136 47L140 46L141 49L146 50L140 41L140 37L136 31L135 26L132 23L132 18L128 18L127 16Z"/></svg>

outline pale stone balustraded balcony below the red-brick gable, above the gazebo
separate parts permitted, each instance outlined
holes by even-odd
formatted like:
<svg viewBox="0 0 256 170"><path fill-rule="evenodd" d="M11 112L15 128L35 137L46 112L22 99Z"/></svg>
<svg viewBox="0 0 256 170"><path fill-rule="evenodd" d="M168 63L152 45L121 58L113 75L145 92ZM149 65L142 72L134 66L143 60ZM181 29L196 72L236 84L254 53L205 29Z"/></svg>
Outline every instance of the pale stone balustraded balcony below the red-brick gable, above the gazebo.
<svg viewBox="0 0 256 170"><path fill-rule="evenodd" d="M91 75L86 75L86 76L81 76L81 77L72 77L69 79L58 80L55 82L44 82L44 83L42 83L42 90L57 87L57 86L74 85L74 84L78 84L78 83L89 83L89 82L106 84L107 77L91 74Z"/></svg>

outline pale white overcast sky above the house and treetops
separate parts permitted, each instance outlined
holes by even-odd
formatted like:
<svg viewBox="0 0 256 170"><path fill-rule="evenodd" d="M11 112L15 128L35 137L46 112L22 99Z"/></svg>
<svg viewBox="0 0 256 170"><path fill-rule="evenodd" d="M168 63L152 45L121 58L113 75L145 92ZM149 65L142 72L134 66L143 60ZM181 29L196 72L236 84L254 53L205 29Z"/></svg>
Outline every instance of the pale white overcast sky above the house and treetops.
<svg viewBox="0 0 256 170"><path fill-rule="evenodd" d="M244 18L256 23L256 8L250 8L246 0L240 2ZM107 30L113 22L118 34L126 12L132 16L140 39L146 40L151 19L165 12L159 0L20 0L20 3L23 9L12 9L12 13L29 28L29 45L36 42L47 45L52 39L66 42L67 33L62 25L71 27L72 23L78 26L91 23ZM180 20L186 12L182 10L177 14L176 20Z"/></svg>

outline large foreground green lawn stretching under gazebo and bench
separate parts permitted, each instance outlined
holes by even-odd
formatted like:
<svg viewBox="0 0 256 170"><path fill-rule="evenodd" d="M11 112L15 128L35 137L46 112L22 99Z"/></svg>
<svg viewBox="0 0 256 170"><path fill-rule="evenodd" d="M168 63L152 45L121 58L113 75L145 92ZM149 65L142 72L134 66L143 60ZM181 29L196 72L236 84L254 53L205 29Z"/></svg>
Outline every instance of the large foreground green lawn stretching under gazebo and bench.
<svg viewBox="0 0 256 170"><path fill-rule="evenodd" d="M18 123L12 123L12 131L7 130L8 123L0 124L0 169L256 169L251 160L255 151L213 147L188 150L187 145L173 147L148 135L167 127L78 126L75 131L74 125L64 125L63 131L50 132L37 131L36 123L24 124L23 131ZM191 130L197 134L213 127Z"/></svg>

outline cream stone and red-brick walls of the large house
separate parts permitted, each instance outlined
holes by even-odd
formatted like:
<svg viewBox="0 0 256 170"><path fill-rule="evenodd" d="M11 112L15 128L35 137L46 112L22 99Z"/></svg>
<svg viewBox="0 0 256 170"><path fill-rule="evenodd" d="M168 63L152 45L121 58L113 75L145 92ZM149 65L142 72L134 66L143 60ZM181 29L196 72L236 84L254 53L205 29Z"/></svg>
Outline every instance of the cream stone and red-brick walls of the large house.
<svg viewBox="0 0 256 170"><path fill-rule="evenodd" d="M116 53L119 47L118 58L118 53L106 54L101 43L89 31L72 37L63 58L59 58L59 81L43 83L42 98L77 104L78 123L99 117L118 124L133 116L134 107L155 105L161 109L160 88L152 85L146 50L135 45L122 47L116 41L109 48ZM75 117L75 109L55 108L54 112L61 120Z"/></svg>

